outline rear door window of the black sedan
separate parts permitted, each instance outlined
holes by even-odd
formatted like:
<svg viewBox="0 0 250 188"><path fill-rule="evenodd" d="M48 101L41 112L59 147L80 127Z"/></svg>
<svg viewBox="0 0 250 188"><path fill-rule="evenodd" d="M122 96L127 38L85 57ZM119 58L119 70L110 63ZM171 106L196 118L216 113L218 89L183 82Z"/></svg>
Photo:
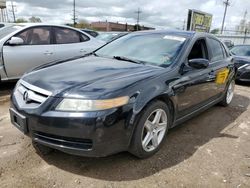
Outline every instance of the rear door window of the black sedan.
<svg viewBox="0 0 250 188"><path fill-rule="evenodd" d="M212 51L211 61L220 61L224 59L221 43L211 38L209 38L208 40L209 40L209 44L210 44L211 51Z"/></svg>

